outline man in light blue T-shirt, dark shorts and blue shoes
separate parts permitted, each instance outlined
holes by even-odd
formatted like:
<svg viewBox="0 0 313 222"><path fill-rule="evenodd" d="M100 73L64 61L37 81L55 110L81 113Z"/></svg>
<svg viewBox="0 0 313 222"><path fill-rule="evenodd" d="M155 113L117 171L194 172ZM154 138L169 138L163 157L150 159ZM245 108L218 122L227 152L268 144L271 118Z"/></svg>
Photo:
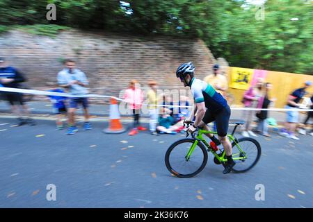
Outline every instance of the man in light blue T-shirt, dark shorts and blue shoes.
<svg viewBox="0 0 313 222"><path fill-rule="evenodd" d="M70 108L68 110L68 124L67 135L77 133L78 129L75 124L75 112L78 104L83 106L83 113L85 122L83 123L84 130L91 130L92 127L89 122L88 98L84 97L88 94L88 80L83 71L75 68L74 60L65 60L65 69L58 73L58 84L61 87L70 89L70 94L75 97L70 98Z"/></svg>

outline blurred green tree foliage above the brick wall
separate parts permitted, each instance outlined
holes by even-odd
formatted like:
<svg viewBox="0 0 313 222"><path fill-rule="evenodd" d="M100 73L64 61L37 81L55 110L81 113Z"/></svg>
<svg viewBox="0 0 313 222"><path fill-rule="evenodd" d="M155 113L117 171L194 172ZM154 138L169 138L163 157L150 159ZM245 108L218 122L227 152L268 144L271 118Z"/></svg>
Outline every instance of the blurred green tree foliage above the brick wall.
<svg viewBox="0 0 313 222"><path fill-rule="evenodd" d="M243 0L126 2L129 5L118 0L2 0L0 31L17 24L56 24L200 37L216 58L225 58L231 66L313 74L312 1L267 0L264 20L256 19L257 6ZM48 3L56 5L56 21L46 19Z"/></svg>

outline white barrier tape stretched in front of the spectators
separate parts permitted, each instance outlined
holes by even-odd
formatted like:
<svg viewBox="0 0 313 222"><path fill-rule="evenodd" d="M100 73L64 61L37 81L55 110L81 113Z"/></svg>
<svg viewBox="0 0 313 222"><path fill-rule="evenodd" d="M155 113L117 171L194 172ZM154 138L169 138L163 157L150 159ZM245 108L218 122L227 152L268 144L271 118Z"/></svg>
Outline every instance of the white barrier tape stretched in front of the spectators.
<svg viewBox="0 0 313 222"><path fill-rule="evenodd" d="M34 90L34 89L17 89L17 88L9 88L9 87L0 87L0 92L18 92L24 94L34 94L34 95L42 95L42 96L64 96L69 98L77 98L77 97L93 97L93 98L113 98L117 101L126 102L124 99L120 99L115 96L105 96L98 94L84 94L84 95L73 95L65 92L49 92L42 90ZM136 103L136 105L149 105L146 103ZM192 108L190 105L157 105L158 107L168 107L168 108ZM231 108L231 110L252 110L252 111L303 111L303 112L313 112L313 109L306 108L294 108L294 109L280 109L280 108L270 108L270 109L258 109L258 108Z"/></svg>

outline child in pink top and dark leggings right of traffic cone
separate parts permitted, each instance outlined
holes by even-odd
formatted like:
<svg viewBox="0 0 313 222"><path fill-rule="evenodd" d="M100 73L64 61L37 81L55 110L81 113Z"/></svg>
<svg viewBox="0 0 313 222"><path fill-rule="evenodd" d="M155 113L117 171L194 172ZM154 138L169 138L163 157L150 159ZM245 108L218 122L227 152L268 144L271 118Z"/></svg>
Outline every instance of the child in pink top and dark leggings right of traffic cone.
<svg viewBox="0 0 313 222"><path fill-rule="evenodd" d="M139 118L141 112L141 104L143 103L143 92L141 89L136 87L137 81L131 80L129 88L125 90L124 99L128 103L129 108L134 114L134 128L129 132L128 135L136 135L138 130L147 130L140 126Z"/></svg>

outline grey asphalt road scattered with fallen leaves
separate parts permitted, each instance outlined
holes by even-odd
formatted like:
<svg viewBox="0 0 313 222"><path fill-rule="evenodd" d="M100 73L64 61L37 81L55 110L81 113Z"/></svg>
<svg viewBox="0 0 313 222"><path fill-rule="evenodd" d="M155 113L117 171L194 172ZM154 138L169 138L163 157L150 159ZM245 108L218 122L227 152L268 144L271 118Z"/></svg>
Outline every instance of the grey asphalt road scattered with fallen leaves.
<svg viewBox="0 0 313 222"><path fill-rule="evenodd" d="M0 117L0 207L313 207L313 137L259 136L252 170L223 175L209 154L198 176L176 178L164 155L184 135L106 135L107 125L68 136L53 121L17 127ZM265 200L255 199L260 184Z"/></svg>

